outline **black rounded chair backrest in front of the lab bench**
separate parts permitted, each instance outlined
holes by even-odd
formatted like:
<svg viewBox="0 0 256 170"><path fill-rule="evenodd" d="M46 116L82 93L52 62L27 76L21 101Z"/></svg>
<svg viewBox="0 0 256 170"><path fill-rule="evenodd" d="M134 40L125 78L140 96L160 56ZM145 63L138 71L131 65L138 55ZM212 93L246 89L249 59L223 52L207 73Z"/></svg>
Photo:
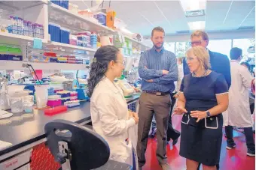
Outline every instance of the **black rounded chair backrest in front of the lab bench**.
<svg viewBox="0 0 256 170"><path fill-rule="evenodd" d="M44 127L51 154L59 154L59 142L67 142L72 170L96 169L107 163L110 149L99 134L71 121L50 121Z"/></svg>

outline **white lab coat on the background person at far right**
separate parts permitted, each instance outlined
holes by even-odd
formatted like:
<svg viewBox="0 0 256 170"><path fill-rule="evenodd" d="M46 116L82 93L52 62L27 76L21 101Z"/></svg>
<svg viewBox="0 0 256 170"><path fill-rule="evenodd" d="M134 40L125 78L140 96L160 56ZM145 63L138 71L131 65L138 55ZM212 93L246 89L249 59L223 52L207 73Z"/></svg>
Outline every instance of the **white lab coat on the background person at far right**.
<svg viewBox="0 0 256 170"><path fill-rule="evenodd" d="M238 61L230 61L230 72L229 106L223 113L224 126L252 127L248 88L254 77Z"/></svg>

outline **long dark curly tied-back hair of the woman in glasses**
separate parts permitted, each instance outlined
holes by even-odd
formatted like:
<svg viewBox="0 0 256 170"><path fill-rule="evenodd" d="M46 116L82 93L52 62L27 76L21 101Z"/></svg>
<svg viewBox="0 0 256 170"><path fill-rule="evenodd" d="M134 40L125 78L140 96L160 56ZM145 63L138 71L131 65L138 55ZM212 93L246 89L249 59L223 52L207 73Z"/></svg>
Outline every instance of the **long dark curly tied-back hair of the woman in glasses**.
<svg viewBox="0 0 256 170"><path fill-rule="evenodd" d="M119 49L115 46L102 46L96 51L94 61L90 65L87 91L89 97L93 95L94 88L105 76L108 70L108 63L117 60L117 52L119 52Z"/></svg>

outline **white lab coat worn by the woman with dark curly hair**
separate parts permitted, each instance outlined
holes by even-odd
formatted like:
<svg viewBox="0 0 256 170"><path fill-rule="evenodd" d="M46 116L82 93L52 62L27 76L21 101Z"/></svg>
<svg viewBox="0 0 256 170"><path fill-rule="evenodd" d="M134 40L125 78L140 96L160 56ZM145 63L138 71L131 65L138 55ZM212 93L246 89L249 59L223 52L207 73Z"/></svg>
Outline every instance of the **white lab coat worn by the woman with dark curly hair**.
<svg viewBox="0 0 256 170"><path fill-rule="evenodd" d="M103 78L93 91L90 99L90 114L93 130L108 142L110 160L133 166L132 142L128 130L135 127L129 118L123 91L107 78Z"/></svg>

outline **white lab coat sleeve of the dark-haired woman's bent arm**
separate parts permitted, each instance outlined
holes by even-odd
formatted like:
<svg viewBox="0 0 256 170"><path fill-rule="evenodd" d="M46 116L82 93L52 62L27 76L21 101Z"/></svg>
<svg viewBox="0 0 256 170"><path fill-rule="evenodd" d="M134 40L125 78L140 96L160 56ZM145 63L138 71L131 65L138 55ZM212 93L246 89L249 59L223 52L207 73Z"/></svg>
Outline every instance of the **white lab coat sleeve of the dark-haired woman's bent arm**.
<svg viewBox="0 0 256 170"><path fill-rule="evenodd" d="M105 136L115 136L120 135L124 132L127 132L129 127L135 125L133 118L129 120L118 119L116 112L118 107L111 94L105 93L101 94L97 99L98 108L99 108L99 117L102 121L102 131L105 133Z"/></svg>

